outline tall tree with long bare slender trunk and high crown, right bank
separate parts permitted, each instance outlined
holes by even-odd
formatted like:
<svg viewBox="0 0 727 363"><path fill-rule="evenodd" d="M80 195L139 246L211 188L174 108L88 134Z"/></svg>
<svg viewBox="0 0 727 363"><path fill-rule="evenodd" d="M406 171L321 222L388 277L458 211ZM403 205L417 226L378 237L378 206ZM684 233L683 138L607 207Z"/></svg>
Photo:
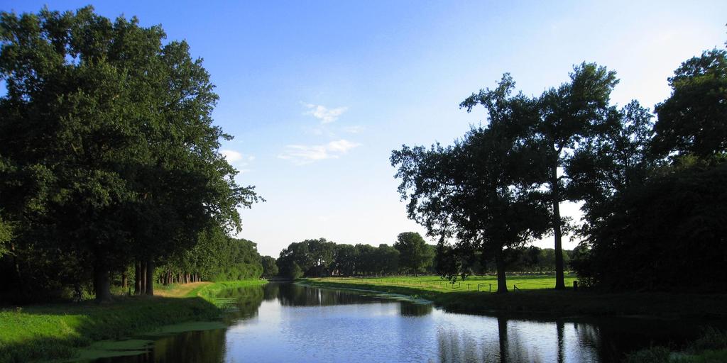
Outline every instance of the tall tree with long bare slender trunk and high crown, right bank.
<svg viewBox="0 0 727 363"><path fill-rule="evenodd" d="M510 97L515 82L509 74L505 74L497 89L481 90L459 105L467 112L476 105L483 105L491 122L505 121L510 133L520 138L518 142L539 150L540 160L536 165L545 168L546 174L543 179L534 182L547 187L550 192L551 228L558 256L556 288L565 287L564 264L560 258L563 234L560 203L566 200L563 188L569 178L569 174L558 176L558 168L569 159L569 150L577 150L584 137L598 132L597 126L603 122L608 109L611 90L618 83L613 71L585 62L574 68L570 78L569 83L530 99L523 94Z"/></svg>

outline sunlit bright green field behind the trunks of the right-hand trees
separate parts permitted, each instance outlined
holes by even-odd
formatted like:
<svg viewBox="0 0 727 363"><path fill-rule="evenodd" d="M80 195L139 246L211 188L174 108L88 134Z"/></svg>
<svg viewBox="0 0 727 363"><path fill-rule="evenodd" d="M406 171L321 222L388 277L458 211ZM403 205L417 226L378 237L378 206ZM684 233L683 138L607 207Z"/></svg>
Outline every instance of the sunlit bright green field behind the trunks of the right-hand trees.
<svg viewBox="0 0 727 363"><path fill-rule="evenodd" d="M373 277L373 278L356 278L356 277L324 277L320 279L311 279L320 282L338 282L356 285L370 286L401 286L414 287L417 290L438 291L441 293L451 293L457 291L480 291L487 293L497 292L497 277L495 276L470 276L466 280L457 280L450 284L438 276L419 276L419 277ZM573 286L576 280L575 275L566 275L566 286ZM552 289L555 287L555 276L553 275L521 275L507 277L507 290L538 290ZM362 287L364 288L364 287Z"/></svg>

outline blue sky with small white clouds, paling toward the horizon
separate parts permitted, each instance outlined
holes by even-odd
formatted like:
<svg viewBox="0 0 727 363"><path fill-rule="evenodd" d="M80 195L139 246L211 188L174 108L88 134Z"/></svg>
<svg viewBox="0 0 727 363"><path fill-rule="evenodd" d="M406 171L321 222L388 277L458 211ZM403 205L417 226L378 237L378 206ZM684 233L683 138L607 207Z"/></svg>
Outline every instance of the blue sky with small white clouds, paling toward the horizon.
<svg viewBox="0 0 727 363"><path fill-rule="evenodd" d="M509 1L508 1L509 2ZM513 1L515 2L515 1ZM505 1L502 1L505 3ZM0 1L0 9L88 1ZM278 256L290 242L392 243L406 219L390 166L401 144L449 144L485 121L457 105L510 72L540 94L582 61L616 70L612 95L653 107L680 62L727 41L727 1L95 1L185 39L217 85L222 147L268 201L240 237ZM577 206L565 205L578 216ZM572 248L576 242L566 242ZM537 242L552 245L550 239Z"/></svg>

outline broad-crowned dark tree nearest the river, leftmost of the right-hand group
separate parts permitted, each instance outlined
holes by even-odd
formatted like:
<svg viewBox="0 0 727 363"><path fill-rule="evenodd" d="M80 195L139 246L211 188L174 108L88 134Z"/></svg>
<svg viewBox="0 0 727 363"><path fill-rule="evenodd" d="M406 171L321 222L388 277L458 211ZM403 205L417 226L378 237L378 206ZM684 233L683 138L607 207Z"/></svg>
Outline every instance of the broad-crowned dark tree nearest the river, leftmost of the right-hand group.
<svg viewBox="0 0 727 363"><path fill-rule="evenodd" d="M498 292L507 292L503 248L539 237L550 213L539 192L545 163L539 146L523 134L537 123L537 102L518 94L505 75L497 89L483 90L477 102L488 110L489 126L470 130L454 146L403 147L392 152L399 192L409 199L409 217L441 237L457 238L457 250L483 250L497 261ZM447 251L440 243L438 250ZM442 269L457 266L438 258Z"/></svg>

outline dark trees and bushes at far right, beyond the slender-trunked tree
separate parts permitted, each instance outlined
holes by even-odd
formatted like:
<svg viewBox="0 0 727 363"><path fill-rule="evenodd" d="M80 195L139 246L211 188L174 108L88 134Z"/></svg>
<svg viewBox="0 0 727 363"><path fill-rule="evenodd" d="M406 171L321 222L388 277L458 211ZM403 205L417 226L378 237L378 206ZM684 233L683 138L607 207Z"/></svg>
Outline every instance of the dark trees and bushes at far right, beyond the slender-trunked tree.
<svg viewBox="0 0 727 363"><path fill-rule="evenodd" d="M727 290L726 65L716 49L683 62L653 130L632 102L566 163L585 200L571 262L583 285Z"/></svg>

